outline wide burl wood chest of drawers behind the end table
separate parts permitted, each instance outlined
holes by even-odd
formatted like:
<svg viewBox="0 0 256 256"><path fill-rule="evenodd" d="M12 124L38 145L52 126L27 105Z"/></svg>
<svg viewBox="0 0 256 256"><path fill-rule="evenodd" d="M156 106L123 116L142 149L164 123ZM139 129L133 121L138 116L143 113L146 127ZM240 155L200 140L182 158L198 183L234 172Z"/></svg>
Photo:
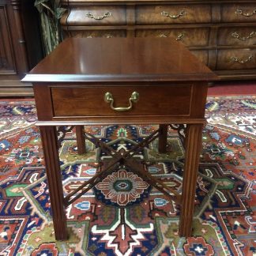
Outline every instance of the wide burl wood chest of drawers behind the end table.
<svg viewBox="0 0 256 256"><path fill-rule="evenodd" d="M255 0L62 0L65 37L173 37L221 79L256 78Z"/></svg>

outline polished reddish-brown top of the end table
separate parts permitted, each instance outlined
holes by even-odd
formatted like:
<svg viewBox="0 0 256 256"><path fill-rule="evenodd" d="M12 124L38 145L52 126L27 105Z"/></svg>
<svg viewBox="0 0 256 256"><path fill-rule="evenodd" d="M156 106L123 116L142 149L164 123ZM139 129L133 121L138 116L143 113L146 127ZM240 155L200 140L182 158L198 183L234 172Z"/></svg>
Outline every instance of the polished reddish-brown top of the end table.
<svg viewBox="0 0 256 256"><path fill-rule="evenodd" d="M69 38L23 81L215 81L217 76L171 38Z"/></svg>

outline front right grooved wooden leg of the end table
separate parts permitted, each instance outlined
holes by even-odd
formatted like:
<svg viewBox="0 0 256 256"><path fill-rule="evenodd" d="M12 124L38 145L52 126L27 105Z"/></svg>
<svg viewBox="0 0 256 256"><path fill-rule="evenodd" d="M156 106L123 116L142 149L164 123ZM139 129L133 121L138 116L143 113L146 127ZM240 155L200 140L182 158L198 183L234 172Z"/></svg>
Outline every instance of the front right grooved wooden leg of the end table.
<svg viewBox="0 0 256 256"><path fill-rule="evenodd" d="M186 127L186 154L183 173L183 194L179 235L191 236L194 215L195 189L198 179L199 155L201 152L201 124L190 124Z"/></svg>

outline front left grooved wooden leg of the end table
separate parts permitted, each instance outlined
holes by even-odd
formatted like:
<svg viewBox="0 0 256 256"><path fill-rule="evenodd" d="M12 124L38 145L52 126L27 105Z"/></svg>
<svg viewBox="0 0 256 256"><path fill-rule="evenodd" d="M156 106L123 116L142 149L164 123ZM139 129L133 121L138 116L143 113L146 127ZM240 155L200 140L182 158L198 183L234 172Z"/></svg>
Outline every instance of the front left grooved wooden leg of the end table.
<svg viewBox="0 0 256 256"><path fill-rule="evenodd" d="M65 240L68 239L68 233L66 228L66 211L63 204L62 175L59 166L56 127L40 126L40 134L47 171L55 239Z"/></svg>

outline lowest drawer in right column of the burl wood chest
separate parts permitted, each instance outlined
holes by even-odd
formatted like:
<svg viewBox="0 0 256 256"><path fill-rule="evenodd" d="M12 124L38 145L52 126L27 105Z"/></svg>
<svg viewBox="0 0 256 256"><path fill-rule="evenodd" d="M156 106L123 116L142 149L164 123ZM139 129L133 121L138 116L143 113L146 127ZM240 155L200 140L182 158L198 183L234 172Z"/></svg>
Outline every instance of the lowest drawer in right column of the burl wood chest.
<svg viewBox="0 0 256 256"><path fill-rule="evenodd" d="M217 70L250 70L256 69L256 50L237 49L219 50Z"/></svg>

